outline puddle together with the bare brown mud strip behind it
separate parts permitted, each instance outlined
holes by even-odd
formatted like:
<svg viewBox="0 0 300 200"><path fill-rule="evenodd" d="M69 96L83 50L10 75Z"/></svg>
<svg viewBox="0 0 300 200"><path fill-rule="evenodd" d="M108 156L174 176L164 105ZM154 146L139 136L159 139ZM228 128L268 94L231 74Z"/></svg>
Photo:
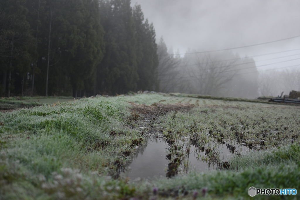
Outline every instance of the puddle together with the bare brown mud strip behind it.
<svg viewBox="0 0 300 200"><path fill-rule="evenodd" d="M120 174L131 180L136 178L153 179L155 177L173 177L193 170L206 172L229 168L228 160L249 151L241 141L226 141L222 136L215 139L210 130L200 134L193 132L187 136L178 136L161 127L159 118L172 110L189 112L191 104L157 104L155 106L137 105L135 110L144 115L138 121L140 131L146 134L147 142L136 146L134 154L129 156L125 170ZM156 119L155 119L156 118ZM187 134L185 134L187 135ZM201 146L199 140L205 140Z"/></svg>

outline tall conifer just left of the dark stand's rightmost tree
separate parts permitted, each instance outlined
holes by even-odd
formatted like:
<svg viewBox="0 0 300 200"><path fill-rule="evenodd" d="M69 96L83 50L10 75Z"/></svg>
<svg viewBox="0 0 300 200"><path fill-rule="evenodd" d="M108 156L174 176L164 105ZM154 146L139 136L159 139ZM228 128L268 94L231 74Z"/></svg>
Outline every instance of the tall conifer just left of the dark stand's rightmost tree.
<svg viewBox="0 0 300 200"><path fill-rule="evenodd" d="M135 90L138 74L130 0L102 0L100 9L105 54L98 65L98 91L115 94Z"/></svg>

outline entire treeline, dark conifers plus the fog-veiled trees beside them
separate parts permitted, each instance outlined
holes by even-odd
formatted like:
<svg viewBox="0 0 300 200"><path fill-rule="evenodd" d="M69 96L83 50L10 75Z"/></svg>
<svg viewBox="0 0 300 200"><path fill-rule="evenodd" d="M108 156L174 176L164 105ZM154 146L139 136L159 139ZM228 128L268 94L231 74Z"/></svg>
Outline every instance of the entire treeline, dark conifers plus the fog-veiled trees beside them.
<svg viewBox="0 0 300 200"><path fill-rule="evenodd" d="M253 58L174 53L131 0L1 0L0 27L1 97L258 96Z"/></svg>

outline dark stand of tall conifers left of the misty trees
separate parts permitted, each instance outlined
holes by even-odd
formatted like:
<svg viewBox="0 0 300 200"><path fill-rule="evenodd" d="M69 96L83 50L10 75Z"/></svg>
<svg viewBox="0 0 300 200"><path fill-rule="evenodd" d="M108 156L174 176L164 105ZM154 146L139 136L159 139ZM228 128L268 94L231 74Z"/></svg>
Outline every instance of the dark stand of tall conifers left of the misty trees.
<svg viewBox="0 0 300 200"><path fill-rule="evenodd" d="M1 96L159 90L155 30L130 0L1 0Z"/></svg>

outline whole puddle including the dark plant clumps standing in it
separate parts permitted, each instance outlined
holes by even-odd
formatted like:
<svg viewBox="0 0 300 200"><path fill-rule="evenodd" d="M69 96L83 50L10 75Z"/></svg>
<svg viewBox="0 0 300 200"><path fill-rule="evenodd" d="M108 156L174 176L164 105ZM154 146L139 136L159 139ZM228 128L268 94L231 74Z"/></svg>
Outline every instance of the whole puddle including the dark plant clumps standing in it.
<svg viewBox="0 0 300 200"><path fill-rule="evenodd" d="M210 149L214 149L210 151ZM210 152L209 152L210 151ZM170 144L158 135L152 135L146 145L137 146L131 155L128 169L122 177L137 178L172 177L193 170L206 172L220 169L234 154L245 154L248 148L238 142L231 145L214 142L207 147L193 146L188 139Z"/></svg>

